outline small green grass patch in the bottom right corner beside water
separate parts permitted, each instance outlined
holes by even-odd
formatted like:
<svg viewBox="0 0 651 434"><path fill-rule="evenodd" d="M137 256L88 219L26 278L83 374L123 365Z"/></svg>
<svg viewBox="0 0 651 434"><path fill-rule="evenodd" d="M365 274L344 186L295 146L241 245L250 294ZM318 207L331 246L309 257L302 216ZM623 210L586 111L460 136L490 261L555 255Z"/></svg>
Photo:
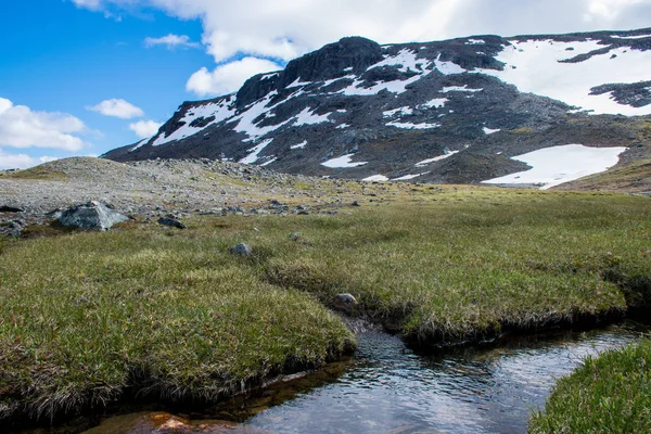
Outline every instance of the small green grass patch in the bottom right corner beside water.
<svg viewBox="0 0 651 434"><path fill-rule="evenodd" d="M529 433L651 432L651 340L589 357L559 380Z"/></svg>

